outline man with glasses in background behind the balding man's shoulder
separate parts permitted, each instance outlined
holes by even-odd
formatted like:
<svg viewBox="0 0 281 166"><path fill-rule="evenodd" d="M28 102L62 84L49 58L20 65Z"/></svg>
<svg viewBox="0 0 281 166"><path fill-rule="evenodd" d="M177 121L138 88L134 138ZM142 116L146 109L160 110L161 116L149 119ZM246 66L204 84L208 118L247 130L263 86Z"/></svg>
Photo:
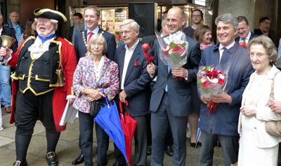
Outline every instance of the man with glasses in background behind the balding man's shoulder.
<svg viewBox="0 0 281 166"><path fill-rule="evenodd" d="M195 29L197 29L199 25L202 25L203 12L200 11L199 9L195 9L191 13L191 20L192 20L192 25L189 27L185 27L183 29L183 33L185 33L185 35L193 39L193 34L195 32Z"/></svg>

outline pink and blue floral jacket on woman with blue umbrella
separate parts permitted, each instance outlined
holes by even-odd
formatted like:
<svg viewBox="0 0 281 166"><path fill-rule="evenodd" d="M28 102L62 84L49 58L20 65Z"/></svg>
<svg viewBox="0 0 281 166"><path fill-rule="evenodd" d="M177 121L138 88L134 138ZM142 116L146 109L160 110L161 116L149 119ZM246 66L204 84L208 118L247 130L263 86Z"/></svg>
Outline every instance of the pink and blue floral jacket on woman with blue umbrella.
<svg viewBox="0 0 281 166"><path fill-rule="evenodd" d="M107 64L109 65L103 74ZM74 94L77 96L73 106L75 109L84 113L90 112L90 104L86 101L86 95L83 95L81 90L84 88L93 89L96 86L98 79L93 69L93 58L91 56L82 57L79 60L73 76L72 88ZM118 64L105 57L100 74L103 74L103 76L97 88L105 90L105 94L107 94L109 100L114 99L115 95L119 92Z"/></svg>

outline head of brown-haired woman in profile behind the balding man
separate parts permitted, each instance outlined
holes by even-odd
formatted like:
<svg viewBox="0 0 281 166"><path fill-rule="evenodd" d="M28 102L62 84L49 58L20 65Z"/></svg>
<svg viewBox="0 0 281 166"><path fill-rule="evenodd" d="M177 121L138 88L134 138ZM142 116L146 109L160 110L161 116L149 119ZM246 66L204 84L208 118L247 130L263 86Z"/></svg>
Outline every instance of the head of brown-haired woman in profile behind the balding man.
<svg viewBox="0 0 281 166"><path fill-rule="evenodd" d="M211 29L208 25L200 25L194 32L193 38L200 43L200 50L203 52L206 48L212 45Z"/></svg>

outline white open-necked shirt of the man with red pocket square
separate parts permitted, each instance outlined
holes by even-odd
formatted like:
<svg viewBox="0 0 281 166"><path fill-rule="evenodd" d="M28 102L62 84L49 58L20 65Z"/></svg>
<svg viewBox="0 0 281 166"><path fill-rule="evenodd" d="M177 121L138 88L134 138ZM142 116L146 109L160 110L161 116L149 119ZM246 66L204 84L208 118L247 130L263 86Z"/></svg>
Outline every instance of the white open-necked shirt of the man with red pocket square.
<svg viewBox="0 0 281 166"><path fill-rule="evenodd" d="M125 45L126 53L125 53L125 59L124 59L124 67L123 67L123 73L122 73L122 80L121 80L121 90L124 90L124 82L125 82L125 76L128 69L129 62L131 60L131 57L133 56L133 51L136 49L136 46L138 45L139 40L128 49L128 46Z"/></svg>

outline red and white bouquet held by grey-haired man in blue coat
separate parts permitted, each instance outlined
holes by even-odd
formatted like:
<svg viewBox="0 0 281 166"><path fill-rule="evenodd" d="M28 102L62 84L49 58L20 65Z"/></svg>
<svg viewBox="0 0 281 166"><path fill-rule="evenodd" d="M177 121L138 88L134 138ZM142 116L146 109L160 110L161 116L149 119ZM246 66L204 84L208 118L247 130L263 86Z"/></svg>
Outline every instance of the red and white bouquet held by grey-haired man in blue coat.
<svg viewBox="0 0 281 166"><path fill-rule="evenodd" d="M221 94L225 88L228 81L227 71L222 70L220 67L199 67L197 73L197 87L200 94L209 99L211 95ZM218 103L213 101L207 102L208 116L209 112L216 111Z"/></svg>

